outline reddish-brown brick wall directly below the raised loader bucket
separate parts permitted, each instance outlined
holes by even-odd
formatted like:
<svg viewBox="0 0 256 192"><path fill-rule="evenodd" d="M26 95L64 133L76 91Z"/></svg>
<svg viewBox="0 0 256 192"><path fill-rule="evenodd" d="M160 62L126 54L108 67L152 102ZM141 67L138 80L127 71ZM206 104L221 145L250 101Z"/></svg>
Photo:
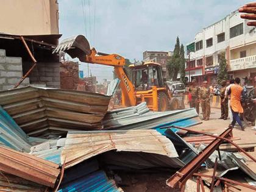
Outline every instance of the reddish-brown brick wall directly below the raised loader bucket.
<svg viewBox="0 0 256 192"><path fill-rule="evenodd" d="M77 90L78 73L78 62L62 62L60 65L60 88Z"/></svg>

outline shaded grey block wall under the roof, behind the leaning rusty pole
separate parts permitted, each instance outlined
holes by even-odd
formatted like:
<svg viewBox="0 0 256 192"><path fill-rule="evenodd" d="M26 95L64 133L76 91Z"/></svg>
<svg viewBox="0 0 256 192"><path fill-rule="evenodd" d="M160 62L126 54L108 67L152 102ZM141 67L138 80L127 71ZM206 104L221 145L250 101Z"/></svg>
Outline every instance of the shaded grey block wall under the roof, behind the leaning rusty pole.
<svg viewBox="0 0 256 192"><path fill-rule="evenodd" d="M33 65L23 63L23 73ZM40 84L51 88L60 88L60 62L38 62L29 74L30 84Z"/></svg>

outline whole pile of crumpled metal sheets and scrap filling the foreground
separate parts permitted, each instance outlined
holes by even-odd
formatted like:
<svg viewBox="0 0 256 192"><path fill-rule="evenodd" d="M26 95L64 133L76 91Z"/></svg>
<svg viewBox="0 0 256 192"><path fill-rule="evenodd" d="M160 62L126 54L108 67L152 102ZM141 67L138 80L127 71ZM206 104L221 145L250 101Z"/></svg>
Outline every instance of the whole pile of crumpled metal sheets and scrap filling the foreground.
<svg viewBox="0 0 256 192"><path fill-rule="evenodd" d="M189 127L201 123L194 108L151 112L141 103L107 111L115 87L108 96L35 87L2 91L0 190L129 191L139 183L134 173L165 180L177 169L161 191L182 189L191 177L201 187L232 185L222 176L238 168L256 179L243 157L215 151L231 141L231 129L219 136L200 133L208 146L193 143ZM228 171L216 174L217 164ZM213 166L213 181L197 172Z"/></svg>

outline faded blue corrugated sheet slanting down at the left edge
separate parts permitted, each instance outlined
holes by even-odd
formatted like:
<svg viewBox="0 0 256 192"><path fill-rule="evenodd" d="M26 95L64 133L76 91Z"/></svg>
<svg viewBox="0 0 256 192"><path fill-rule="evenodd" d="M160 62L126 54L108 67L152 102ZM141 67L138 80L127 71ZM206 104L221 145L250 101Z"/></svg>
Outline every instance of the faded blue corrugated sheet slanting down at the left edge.
<svg viewBox="0 0 256 192"><path fill-rule="evenodd" d="M0 144L17 151L30 152L31 145L26 133L0 106Z"/></svg>

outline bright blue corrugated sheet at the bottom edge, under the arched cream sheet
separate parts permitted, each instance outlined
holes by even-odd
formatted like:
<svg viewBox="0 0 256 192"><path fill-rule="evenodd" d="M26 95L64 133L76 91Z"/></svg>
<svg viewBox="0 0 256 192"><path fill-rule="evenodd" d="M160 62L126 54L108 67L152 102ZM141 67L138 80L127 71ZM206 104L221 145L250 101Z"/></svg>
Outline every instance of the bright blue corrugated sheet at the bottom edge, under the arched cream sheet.
<svg viewBox="0 0 256 192"><path fill-rule="evenodd" d="M73 191L123 191L116 187L114 180L108 180L104 171L96 171L87 176L80 177L71 182L66 183L61 187L59 192Z"/></svg>

